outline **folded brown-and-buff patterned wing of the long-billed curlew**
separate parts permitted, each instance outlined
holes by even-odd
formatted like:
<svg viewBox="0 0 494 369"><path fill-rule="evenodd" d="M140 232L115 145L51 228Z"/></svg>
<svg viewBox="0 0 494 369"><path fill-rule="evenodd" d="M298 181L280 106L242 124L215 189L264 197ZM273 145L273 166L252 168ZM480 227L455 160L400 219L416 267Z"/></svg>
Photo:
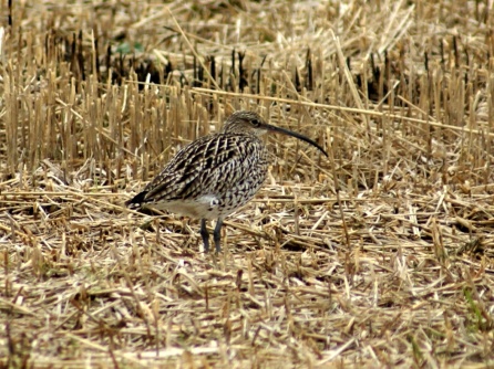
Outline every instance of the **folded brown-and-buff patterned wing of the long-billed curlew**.
<svg viewBox="0 0 494 369"><path fill-rule="evenodd" d="M147 184L143 202L223 193L250 176L263 144L257 137L218 134L184 147Z"/></svg>

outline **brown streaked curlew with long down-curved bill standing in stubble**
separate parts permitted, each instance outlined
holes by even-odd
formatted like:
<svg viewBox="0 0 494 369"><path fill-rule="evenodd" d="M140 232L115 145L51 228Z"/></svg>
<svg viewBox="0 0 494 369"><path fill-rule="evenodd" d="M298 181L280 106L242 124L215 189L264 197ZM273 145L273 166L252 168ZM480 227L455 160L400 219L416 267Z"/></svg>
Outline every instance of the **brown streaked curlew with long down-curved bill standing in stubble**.
<svg viewBox="0 0 494 369"><path fill-rule="evenodd" d="M260 139L266 133L296 137L328 157L310 138L267 124L255 112L237 110L225 120L219 133L203 136L178 150L144 190L125 204L200 219L205 253L209 252L207 221L216 220L213 239L219 253L225 217L250 201L268 173L269 151Z"/></svg>

